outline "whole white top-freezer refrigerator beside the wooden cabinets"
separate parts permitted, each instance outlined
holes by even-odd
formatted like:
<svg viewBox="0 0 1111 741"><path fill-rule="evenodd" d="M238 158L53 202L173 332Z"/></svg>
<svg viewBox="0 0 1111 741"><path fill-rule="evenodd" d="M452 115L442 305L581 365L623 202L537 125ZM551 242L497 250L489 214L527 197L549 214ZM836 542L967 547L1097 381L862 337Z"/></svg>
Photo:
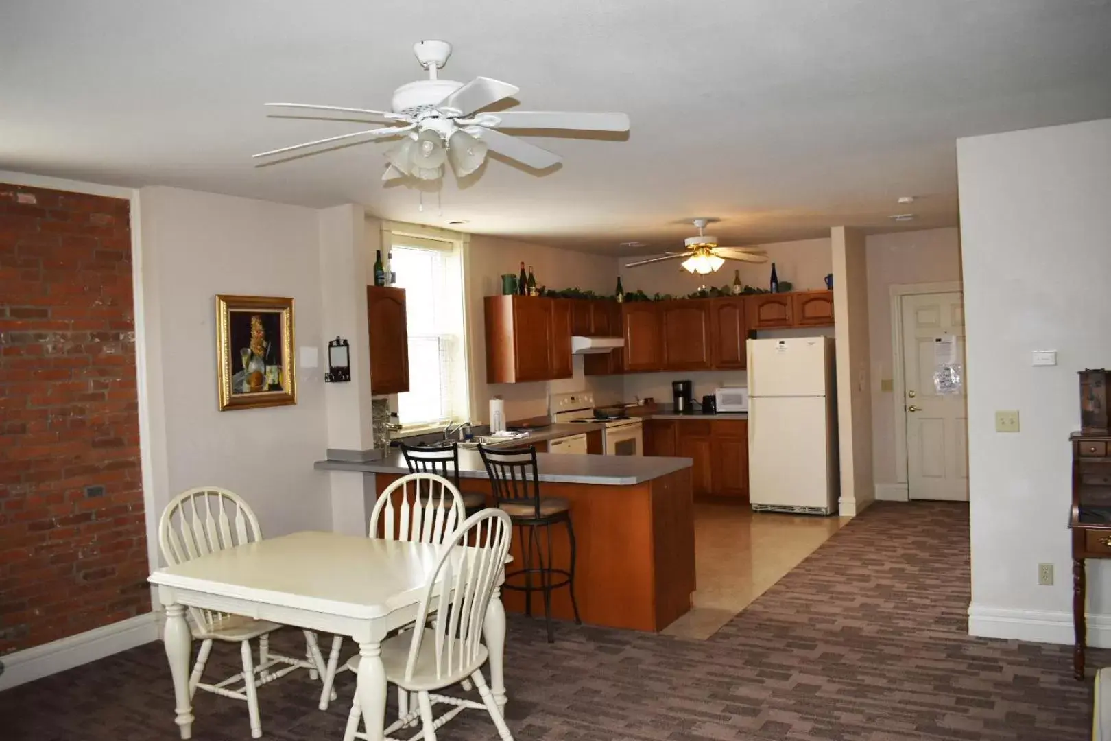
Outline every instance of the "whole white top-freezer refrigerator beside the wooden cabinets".
<svg viewBox="0 0 1111 741"><path fill-rule="evenodd" d="M752 509L837 512L833 338L749 340L748 361Z"/></svg>

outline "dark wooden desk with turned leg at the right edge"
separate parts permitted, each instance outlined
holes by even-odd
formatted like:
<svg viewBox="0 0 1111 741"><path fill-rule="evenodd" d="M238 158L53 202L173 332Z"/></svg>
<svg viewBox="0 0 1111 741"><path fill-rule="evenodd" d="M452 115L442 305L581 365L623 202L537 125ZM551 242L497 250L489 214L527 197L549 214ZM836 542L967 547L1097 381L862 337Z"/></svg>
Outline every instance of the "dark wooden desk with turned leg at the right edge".
<svg viewBox="0 0 1111 741"><path fill-rule="evenodd" d="M1072 621L1077 643L1072 670L1084 677L1084 559L1111 558L1111 433L1073 432L1072 443Z"/></svg>

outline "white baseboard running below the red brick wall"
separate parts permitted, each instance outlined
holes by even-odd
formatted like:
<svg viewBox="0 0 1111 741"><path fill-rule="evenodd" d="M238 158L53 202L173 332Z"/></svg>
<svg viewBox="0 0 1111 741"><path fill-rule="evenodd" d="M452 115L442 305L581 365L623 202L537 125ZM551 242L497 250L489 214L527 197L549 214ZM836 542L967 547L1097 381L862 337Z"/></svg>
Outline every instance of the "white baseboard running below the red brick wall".
<svg viewBox="0 0 1111 741"><path fill-rule="evenodd" d="M50 643L0 657L0 690L150 643L159 638L159 612L128 618Z"/></svg>

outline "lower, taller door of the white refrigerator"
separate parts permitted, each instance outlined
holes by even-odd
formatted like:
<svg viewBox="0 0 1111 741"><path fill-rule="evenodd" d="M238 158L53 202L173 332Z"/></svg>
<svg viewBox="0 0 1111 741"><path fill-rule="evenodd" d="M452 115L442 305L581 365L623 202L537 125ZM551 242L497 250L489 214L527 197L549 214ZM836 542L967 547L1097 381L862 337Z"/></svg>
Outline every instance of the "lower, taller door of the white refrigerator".
<svg viewBox="0 0 1111 741"><path fill-rule="evenodd" d="M749 399L749 501L829 508L825 399Z"/></svg>

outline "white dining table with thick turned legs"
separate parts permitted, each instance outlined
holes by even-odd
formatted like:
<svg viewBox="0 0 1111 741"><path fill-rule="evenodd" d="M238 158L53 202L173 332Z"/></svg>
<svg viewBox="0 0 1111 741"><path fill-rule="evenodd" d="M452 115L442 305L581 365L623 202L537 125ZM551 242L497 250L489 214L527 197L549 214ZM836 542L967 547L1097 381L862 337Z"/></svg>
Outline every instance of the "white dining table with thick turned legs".
<svg viewBox="0 0 1111 741"><path fill-rule="evenodd" d="M297 532L153 572L150 582L158 585L159 601L166 608L163 641L181 738L192 735L192 633L186 608L194 607L350 637L362 657L356 692L367 733L374 741L382 739L388 688L381 642L390 631L416 620L439 548L334 532ZM482 630L490 654L490 690L504 713L506 609L500 584L487 607Z"/></svg>

